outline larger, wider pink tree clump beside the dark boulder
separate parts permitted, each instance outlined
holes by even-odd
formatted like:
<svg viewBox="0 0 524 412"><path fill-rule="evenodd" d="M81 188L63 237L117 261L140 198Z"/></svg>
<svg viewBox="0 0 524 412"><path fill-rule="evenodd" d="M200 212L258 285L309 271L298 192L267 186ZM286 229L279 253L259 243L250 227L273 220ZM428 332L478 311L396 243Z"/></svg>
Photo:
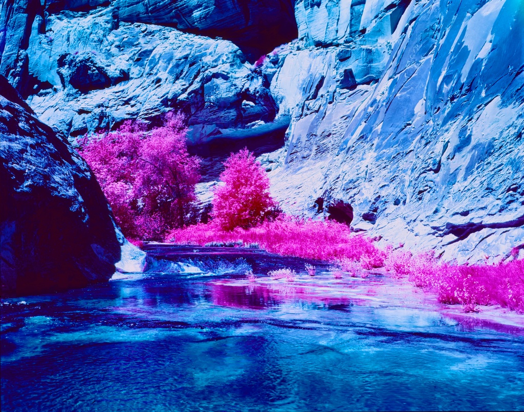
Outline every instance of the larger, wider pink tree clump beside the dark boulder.
<svg viewBox="0 0 524 412"><path fill-rule="evenodd" d="M185 133L182 118L169 114L150 132L128 120L114 133L84 139L80 153L126 237L160 240L184 224L200 180L199 159L188 154Z"/></svg>

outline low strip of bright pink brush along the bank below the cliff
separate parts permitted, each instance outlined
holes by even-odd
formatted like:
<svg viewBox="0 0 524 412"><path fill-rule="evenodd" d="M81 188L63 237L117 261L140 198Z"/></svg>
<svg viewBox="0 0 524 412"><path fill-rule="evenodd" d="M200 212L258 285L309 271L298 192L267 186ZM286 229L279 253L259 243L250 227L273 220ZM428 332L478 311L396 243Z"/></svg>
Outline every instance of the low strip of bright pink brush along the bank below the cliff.
<svg viewBox="0 0 524 412"><path fill-rule="evenodd" d="M402 249L380 250L375 239L355 235L334 221L297 221L289 216L232 231L211 222L173 230L168 238L202 246L211 241L258 243L272 253L336 263L354 277L366 277L365 269L383 267L391 276L407 277L414 285L435 291L442 303L470 305L468 310L475 305L499 304L524 313L522 260L456 265L442 262L433 252L414 255Z"/></svg>

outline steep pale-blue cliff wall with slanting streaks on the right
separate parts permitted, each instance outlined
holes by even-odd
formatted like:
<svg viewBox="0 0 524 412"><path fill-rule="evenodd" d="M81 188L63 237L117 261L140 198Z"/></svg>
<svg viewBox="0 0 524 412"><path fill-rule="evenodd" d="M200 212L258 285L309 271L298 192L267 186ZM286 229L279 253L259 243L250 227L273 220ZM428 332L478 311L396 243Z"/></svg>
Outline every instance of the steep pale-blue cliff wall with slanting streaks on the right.
<svg viewBox="0 0 524 412"><path fill-rule="evenodd" d="M277 197L295 194L288 210L343 199L356 228L459 261L523 243L522 2L411 2L389 32L398 6L365 2L350 44L353 16L342 31L325 17L342 2L317 3L297 4L299 29L328 47L290 53L271 83L291 116L272 174Z"/></svg>

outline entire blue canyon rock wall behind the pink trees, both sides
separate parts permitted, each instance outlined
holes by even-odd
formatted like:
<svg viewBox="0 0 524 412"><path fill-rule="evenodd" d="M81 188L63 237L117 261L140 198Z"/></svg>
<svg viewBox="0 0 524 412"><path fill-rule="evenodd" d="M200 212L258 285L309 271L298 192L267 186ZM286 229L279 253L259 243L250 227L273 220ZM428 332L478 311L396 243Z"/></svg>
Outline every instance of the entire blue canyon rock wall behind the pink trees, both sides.
<svg viewBox="0 0 524 412"><path fill-rule="evenodd" d="M524 242L518 0L39 4L2 9L0 69L70 138L177 108L208 148L285 137L261 159L286 211L342 199L357 229L446 259ZM253 65L256 39L286 44Z"/></svg>

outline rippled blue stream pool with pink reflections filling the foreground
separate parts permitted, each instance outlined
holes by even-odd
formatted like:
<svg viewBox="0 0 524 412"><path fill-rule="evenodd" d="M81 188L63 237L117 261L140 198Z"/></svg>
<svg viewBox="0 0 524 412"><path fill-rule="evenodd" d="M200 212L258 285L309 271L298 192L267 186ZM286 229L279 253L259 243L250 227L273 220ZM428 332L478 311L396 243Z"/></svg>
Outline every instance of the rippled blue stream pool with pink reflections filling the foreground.
<svg viewBox="0 0 524 412"><path fill-rule="evenodd" d="M524 408L518 327L450 318L379 275L183 270L3 300L2 410Z"/></svg>

